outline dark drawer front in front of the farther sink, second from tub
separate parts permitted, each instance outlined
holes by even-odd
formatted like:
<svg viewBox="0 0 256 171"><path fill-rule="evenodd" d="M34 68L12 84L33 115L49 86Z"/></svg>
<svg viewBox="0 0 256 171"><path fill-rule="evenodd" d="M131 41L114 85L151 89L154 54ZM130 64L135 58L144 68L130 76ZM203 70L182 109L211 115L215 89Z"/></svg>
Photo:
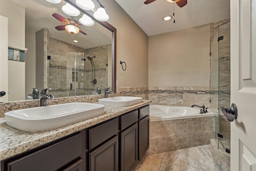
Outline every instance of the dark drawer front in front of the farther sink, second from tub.
<svg viewBox="0 0 256 171"><path fill-rule="evenodd" d="M138 110L122 115L120 119L121 119L121 131L122 131L123 129L127 128L128 126L138 121Z"/></svg>

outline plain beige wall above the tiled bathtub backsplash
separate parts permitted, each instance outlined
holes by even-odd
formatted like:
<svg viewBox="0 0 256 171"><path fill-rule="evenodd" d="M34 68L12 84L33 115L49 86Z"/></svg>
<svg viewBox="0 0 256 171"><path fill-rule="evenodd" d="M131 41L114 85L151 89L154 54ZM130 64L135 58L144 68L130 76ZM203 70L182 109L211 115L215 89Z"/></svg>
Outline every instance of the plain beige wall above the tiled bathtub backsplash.
<svg viewBox="0 0 256 171"><path fill-rule="evenodd" d="M209 24L148 38L149 87L209 87Z"/></svg>

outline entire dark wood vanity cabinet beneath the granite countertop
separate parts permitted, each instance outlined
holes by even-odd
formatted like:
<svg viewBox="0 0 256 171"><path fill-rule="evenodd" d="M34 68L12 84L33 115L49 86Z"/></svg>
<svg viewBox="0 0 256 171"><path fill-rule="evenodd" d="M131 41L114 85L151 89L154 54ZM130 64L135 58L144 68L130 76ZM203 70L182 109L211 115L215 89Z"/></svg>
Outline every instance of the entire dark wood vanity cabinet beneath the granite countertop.
<svg viewBox="0 0 256 171"><path fill-rule="evenodd" d="M149 105L1 161L1 171L128 171L149 147Z"/></svg>

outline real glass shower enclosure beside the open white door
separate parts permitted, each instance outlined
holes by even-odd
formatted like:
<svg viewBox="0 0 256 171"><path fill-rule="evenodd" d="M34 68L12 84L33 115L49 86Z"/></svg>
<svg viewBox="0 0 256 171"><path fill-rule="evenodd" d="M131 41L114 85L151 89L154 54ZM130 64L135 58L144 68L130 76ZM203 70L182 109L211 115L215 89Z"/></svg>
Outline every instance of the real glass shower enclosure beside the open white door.
<svg viewBox="0 0 256 171"><path fill-rule="evenodd" d="M220 107L230 107L230 20L213 23L210 44L210 108L214 111L214 138L230 153L230 122Z"/></svg>

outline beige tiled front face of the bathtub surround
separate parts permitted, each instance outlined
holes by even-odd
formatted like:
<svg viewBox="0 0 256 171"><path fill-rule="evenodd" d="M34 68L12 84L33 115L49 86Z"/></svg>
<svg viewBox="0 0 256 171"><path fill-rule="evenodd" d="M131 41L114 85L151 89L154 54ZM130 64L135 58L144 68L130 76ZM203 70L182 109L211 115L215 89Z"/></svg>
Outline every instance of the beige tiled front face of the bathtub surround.
<svg viewBox="0 0 256 171"><path fill-rule="evenodd" d="M213 117L150 121L149 154L210 144Z"/></svg>

